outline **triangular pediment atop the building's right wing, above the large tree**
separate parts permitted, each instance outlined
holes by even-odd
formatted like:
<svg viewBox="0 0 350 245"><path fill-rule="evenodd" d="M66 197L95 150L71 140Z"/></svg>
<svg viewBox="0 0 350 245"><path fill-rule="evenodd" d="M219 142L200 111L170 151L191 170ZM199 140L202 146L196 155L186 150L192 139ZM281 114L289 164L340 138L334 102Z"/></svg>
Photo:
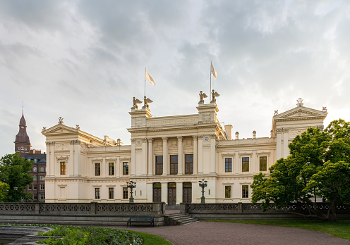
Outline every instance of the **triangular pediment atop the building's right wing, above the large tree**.
<svg viewBox="0 0 350 245"><path fill-rule="evenodd" d="M325 111L318 111L313 108L298 106L289 111L285 111L284 113L274 115L274 120L287 120L289 118L325 118L326 116L327 112Z"/></svg>

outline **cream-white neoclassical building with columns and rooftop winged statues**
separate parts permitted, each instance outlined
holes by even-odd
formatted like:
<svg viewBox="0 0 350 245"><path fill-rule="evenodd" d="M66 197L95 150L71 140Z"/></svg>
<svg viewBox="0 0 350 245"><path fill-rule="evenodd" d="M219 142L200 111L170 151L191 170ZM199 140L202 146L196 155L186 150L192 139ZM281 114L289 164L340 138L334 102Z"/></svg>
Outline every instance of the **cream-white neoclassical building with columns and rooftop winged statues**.
<svg viewBox="0 0 350 245"><path fill-rule="evenodd" d="M323 128L327 109L297 106L274 112L270 137L231 137L217 119L216 101L198 103L198 113L152 117L147 101L131 108L131 145L68 127L62 118L42 134L47 144L47 202L128 202L127 182L136 182L135 202L168 205L200 203L199 180L206 180L207 203L250 202L253 175L268 174L288 144L308 127Z"/></svg>

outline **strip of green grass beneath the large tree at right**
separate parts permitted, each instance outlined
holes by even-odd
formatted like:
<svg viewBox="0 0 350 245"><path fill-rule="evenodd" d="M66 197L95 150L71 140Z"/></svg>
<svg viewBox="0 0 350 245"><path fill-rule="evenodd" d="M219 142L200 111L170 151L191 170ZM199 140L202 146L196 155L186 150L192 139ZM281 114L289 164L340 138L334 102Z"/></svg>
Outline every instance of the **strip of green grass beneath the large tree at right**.
<svg viewBox="0 0 350 245"><path fill-rule="evenodd" d="M212 222L230 222L255 225L277 225L295 227L306 230L316 230L331 234L333 237L340 237L350 240L350 220L337 220L327 222L323 220L202 220Z"/></svg>

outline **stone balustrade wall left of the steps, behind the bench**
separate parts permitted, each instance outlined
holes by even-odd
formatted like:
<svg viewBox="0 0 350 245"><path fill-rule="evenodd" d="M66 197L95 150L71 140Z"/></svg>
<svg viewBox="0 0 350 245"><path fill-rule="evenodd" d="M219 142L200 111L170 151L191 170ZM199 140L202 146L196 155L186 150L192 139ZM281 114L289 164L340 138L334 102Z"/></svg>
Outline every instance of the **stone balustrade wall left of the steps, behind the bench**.
<svg viewBox="0 0 350 245"><path fill-rule="evenodd" d="M126 225L130 217L154 217L164 225L165 203L0 203L0 222Z"/></svg>

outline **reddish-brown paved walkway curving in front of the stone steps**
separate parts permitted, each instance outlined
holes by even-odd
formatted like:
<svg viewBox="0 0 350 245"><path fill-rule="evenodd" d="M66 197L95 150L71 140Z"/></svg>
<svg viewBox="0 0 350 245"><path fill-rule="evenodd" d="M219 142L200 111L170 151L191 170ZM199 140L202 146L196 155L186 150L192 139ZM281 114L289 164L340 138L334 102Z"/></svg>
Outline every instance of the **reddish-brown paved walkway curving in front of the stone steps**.
<svg viewBox="0 0 350 245"><path fill-rule="evenodd" d="M175 245L193 244L346 244L350 241L329 234L290 227L250 225L225 222L195 222L189 225L162 227L113 227L155 234Z"/></svg>

